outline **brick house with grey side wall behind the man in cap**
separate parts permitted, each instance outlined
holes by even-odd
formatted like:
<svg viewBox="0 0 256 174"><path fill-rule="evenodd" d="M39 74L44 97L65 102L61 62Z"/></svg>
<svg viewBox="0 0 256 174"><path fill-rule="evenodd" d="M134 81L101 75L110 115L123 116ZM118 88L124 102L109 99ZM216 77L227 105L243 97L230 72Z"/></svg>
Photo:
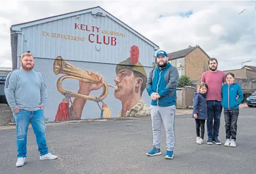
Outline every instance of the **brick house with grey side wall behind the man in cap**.
<svg viewBox="0 0 256 174"><path fill-rule="evenodd" d="M191 81L198 81L203 72L208 70L210 57L199 46L168 53L169 62L176 66L179 76L187 75ZM157 65L157 64L155 64Z"/></svg>

